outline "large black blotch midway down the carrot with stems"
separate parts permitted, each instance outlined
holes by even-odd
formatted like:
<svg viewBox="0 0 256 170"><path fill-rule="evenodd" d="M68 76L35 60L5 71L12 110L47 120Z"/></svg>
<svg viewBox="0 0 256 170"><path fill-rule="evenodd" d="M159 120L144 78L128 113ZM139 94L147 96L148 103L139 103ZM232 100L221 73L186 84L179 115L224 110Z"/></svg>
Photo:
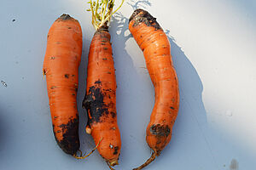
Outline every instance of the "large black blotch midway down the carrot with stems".
<svg viewBox="0 0 256 170"><path fill-rule="evenodd" d="M88 124L92 122L100 122L103 115L108 115L108 105L103 102L104 94L101 88L91 86L88 94L85 95L83 101L83 107L90 111L91 118L88 120Z"/></svg>

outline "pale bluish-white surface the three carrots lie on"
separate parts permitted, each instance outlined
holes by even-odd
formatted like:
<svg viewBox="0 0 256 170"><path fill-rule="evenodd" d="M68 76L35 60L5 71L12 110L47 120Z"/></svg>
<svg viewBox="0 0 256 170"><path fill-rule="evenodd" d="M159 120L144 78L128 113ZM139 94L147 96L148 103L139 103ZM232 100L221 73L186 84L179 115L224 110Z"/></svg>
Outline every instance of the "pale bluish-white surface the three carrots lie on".
<svg viewBox="0 0 256 170"><path fill-rule="evenodd" d="M181 96L172 141L145 169L256 169L255 1L139 2L126 1L110 28L122 139L116 169L137 167L150 156L145 128L154 88L143 68L143 53L127 31L137 7L147 9L168 32ZM84 35L79 133L81 149L91 150L94 143L85 134L87 116L81 108L94 33L88 7L84 0L1 0L0 81L7 87L0 83L0 169L108 169L97 152L76 160L59 149L42 75L49 26L61 14L71 14Z"/></svg>

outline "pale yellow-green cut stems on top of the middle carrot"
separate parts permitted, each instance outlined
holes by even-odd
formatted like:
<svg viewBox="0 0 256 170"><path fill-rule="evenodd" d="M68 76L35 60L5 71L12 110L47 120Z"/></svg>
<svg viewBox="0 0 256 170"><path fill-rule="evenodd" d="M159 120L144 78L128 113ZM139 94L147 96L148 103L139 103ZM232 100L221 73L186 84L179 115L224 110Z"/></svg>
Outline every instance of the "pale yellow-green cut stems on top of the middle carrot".
<svg viewBox="0 0 256 170"><path fill-rule="evenodd" d="M87 11L91 11L91 23L96 30L102 26L108 26L111 16L116 13L123 5L125 0L113 11L114 0L90 0L90 8Z"/></svg>

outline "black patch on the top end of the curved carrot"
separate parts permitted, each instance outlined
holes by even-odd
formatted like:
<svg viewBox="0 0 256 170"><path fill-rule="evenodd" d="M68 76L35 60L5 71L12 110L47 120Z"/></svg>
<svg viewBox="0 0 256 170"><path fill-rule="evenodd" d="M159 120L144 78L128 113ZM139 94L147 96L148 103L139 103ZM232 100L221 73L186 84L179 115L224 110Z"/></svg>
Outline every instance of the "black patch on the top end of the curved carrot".
<svg viewBox="0 0 256 170"><path fill-rule="evenodd" d="M153 26L155 30L162 30L156 18L154 18L148 11L143 10L142 8L137 8L129 19L129 23L131 20L134 20L133 26L138 26L140 23L144 23L146 26Z"/></svg>

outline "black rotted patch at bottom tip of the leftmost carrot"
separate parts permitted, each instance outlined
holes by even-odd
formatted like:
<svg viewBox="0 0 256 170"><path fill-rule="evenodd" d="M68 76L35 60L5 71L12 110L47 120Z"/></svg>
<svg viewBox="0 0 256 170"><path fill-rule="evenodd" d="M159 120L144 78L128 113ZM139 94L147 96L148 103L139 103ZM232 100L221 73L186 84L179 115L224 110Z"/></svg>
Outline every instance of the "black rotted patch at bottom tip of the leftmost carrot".
<svg viewBox="0 0 256 170"><path fill-rule="evenodd" d="M73 154L75 154L80 147L79 119L78 118L72 119L67 124L62 124L59 127L61 127L63 139L59 141L55 137L57 144L61 147L61 149L65 153L73 156ZM55 126L53 126L53 128L55 129ZM55 130L54 130L54 133L55 133Z"/></svg>

